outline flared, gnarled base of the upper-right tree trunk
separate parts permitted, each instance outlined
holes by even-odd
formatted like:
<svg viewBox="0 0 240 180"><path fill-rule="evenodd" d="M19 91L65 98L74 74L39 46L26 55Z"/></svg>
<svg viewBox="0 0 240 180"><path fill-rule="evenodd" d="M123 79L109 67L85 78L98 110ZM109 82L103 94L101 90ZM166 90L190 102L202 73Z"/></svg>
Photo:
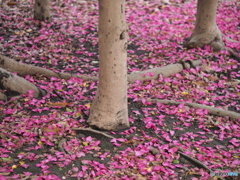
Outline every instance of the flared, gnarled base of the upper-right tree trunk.
<svg viewBox="0 0 240 180"><path fill-rule="evenodd" d="M202 48L205 45L210 45L213 51L220 51L225 49L222 40L222 33L218 27L210 29L204 33L193 33L188 39L185 47L189 49L197 47Z"/></svg>

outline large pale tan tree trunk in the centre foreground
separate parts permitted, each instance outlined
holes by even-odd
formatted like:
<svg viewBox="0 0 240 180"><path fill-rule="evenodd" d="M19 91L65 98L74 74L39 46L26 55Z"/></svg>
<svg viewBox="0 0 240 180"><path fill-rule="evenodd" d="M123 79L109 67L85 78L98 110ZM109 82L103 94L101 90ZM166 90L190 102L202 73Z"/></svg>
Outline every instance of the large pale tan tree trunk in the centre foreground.
<svg viewBox="0 0 240 180"><path fill-rule="evenodd" d="M129 127L125 0L99 0L100 72L88 123L104 130Z"/></svg>

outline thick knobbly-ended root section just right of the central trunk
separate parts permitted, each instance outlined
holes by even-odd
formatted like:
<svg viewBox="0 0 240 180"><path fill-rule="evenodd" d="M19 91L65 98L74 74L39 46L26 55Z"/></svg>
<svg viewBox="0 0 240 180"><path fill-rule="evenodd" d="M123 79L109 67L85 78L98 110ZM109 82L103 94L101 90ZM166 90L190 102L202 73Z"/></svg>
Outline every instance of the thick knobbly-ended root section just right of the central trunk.
<svg viewBox="0 0 240 180"><path fill-rule="evenodd" d="M193 67L199 66L201 63L202 63L201 60L191 62L181 61L180 63L170 64L164 67L157 67L145 71L133 72L128 75L128 82L133 83L135 80L145 81L150 79L157 79L160 74L162 74L163 77L168 77L171 74L181 72L183 69L191 68L191 66Z"/></svg>

